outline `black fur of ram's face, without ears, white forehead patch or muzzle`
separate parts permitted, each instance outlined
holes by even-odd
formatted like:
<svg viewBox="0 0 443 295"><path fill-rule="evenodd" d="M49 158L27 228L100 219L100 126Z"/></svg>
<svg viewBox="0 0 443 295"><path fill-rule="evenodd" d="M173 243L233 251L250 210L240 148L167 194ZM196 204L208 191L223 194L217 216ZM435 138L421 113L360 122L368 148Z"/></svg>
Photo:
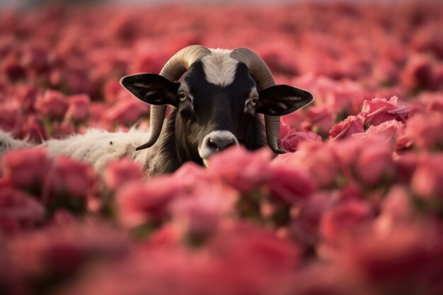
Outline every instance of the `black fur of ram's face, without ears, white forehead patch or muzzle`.
<svg viewBox="0 0 443 295"><path fill-rule="evenodd" d="M228 86L208 83L201 62L192 64L178 88L177 131L192 134L189 145L200 149L207 134L226 131L243 144L253 122L253 104L258 100L255 81L245 64L238 64ZM252 103L251 103L252 102Z"/></svg>

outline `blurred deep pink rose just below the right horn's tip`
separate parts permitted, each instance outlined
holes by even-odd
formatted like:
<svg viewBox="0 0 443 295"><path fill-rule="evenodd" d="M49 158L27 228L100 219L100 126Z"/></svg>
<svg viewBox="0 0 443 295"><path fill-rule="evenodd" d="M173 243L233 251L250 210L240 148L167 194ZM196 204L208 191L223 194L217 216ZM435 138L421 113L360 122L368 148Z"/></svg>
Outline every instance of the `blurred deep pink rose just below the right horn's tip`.
<svg viewBox="0 0 443 295"><path fill-rule="evenodd" d="M314 190L313 181L304 170L282 162L273 162L269 170L267 187L277 198L294 203L306 199Z"/></svg>

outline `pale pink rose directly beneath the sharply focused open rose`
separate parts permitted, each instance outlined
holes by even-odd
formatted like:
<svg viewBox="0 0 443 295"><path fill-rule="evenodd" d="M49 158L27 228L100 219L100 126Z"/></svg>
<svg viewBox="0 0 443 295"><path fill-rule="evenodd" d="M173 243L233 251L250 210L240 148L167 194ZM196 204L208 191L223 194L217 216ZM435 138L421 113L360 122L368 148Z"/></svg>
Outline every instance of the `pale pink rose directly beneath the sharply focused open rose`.
<svg viewBox="0 0 443 295"><path fill-rule="evenodd" d="M371 125L366 132L352 134L357 139L374 139L380 141L390 141L396 139L403 130L403 123L397 120L390 120L380 125Z"/></svg>

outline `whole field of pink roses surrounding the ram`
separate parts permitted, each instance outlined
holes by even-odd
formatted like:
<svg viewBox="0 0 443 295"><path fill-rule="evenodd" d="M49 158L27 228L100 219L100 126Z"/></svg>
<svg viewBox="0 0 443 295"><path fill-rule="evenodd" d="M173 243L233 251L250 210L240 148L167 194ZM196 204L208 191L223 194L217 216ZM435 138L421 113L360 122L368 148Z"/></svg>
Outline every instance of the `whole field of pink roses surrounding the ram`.
<svg viewBox="0 0 443 295"><path fill-rule="evenodd" d="M286 154L239 146L152 179L0 145L0 294L443 294L441 11L2 7L0 129L33 146L149 129L120 78L192 44L248 47L316 99L282 117Z"/></svg>

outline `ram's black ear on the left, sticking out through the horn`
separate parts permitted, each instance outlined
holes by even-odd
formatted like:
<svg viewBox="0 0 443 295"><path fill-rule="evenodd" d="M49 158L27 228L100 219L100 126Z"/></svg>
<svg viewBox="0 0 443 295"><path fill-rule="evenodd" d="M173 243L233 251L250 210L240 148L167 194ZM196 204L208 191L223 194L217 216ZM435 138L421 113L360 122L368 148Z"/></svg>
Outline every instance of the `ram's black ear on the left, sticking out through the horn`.
<svg viewBox="0 0 443 295"><path fill-rule="evenodd" d="M178 106L177 91L180 83L157 74L124 76L120 84L137 98L150 105Z"/></svg>

